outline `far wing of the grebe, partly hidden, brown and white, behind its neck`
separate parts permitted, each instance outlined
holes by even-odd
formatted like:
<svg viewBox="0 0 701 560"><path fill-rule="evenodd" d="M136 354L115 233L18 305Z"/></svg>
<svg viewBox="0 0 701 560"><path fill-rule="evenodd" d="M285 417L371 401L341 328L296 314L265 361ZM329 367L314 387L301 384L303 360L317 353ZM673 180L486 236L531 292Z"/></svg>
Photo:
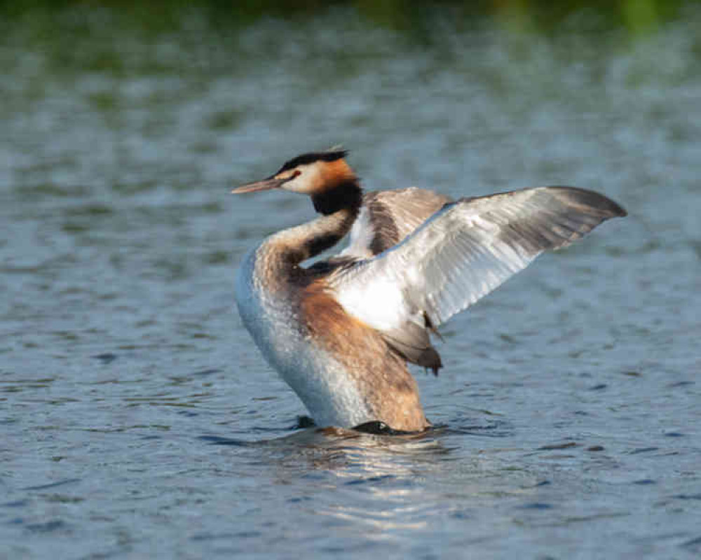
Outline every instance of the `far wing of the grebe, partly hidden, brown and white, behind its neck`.
<svg viewBox="0 0 701 560"><path fill-rule="evenodd" d="M350 242L339 257L370 258L395 246L440 210L451 198L411 187L363 195Z"/></svg>

